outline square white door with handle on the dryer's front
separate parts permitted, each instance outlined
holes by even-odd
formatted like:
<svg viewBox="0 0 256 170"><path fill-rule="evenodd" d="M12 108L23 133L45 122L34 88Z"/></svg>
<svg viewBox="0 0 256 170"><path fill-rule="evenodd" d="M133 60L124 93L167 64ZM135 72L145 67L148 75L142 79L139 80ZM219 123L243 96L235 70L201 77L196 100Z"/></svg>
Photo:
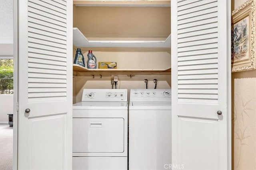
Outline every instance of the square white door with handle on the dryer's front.
<svg viewBox="0 0 256 170"><path fill-rule="evenodd" d="M124 119L73 118L73 152L124 152Z"/></svg>

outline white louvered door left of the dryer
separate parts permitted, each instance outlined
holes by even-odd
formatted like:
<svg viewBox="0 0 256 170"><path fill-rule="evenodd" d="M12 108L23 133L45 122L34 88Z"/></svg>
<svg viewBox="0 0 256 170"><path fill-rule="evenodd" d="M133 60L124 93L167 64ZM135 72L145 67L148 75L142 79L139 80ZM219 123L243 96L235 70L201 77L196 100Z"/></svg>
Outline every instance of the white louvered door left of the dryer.
<svg viewBox="0 0 256 170"><path fill-rule="evenodd" d="M18 1L20 170L72 169L72 5Z"/></svg>

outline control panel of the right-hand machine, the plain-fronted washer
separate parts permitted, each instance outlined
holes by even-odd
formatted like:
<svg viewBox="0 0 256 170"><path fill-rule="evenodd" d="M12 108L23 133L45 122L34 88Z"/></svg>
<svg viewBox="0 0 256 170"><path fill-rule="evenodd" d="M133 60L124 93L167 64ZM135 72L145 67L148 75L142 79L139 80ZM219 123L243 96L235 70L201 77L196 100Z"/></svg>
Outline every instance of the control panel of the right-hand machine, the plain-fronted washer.
<svg viewBox="0 0 256 170"><path fill-rule="evenodd" d="M171 89L131 89L130 101L169 102L172 99Z"/></svg>

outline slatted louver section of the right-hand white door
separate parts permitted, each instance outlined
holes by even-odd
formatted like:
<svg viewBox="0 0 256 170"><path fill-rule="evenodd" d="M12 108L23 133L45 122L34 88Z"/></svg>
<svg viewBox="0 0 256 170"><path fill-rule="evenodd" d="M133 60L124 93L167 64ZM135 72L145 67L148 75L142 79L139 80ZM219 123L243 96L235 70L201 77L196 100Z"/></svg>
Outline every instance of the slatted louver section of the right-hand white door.
<svg viewBox="0 0 256 170"><path fill-rule="evenodd" d="M178 102L218 99L217 14L216 0L178 3Z"/></svg>

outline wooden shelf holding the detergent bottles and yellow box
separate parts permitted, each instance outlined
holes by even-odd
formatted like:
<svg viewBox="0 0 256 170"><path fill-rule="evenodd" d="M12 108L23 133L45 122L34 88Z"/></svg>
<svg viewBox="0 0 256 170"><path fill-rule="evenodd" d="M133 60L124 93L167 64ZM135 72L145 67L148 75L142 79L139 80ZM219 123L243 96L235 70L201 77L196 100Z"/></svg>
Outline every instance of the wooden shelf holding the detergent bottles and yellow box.
<svg viewBox="0 0 256 170"><path fill-rule="evenodd" d="M123 69L123 68L117 68L117 69L88 69L83 66L80 66L78 64L73 64L73 71L77 72L171 72L171 68L166 69Z"/></svg>

